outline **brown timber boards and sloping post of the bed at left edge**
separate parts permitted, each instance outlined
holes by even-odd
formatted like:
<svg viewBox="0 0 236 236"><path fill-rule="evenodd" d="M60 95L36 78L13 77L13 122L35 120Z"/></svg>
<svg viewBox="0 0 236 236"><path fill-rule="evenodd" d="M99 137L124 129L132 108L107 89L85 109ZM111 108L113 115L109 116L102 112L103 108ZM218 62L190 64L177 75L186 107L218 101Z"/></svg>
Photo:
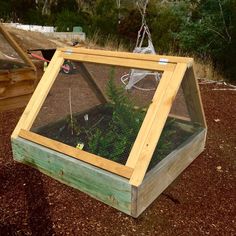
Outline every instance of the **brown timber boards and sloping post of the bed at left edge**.
<svg viewBox="0 0 236 236"><path fill-rule="evenodd" d="M2 112L26 106L38 80L35 65L2 24L0 24L0 34L25 63L24 68L0 71L0 112Z"/></svg>

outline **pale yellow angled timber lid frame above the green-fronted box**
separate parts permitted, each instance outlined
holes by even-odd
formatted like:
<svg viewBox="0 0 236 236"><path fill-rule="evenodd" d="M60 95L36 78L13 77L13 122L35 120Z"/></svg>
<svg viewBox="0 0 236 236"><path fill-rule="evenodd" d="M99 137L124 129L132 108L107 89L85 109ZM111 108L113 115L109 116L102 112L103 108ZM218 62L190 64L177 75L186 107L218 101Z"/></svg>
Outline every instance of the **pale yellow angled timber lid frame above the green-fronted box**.
<svg viewBox="0 0 236 236"><path fill-rule="evenodd" d="M150 104L138 136L125 165L107 160L97 155L78 150L63 143L30 132L30 128L49 93L64 60L81 63L123 66L163 72L152 103ZM12 139L21 137L58 152L105 169L129 179L133 186L139 186L148 169L152 154L159 141L175 96L182 83L188 111L192 121L206 127L199 87L193 72L193 59L184 57L145 55L112 52L84 48L61 48L56 51L21 119Z"/></svg>

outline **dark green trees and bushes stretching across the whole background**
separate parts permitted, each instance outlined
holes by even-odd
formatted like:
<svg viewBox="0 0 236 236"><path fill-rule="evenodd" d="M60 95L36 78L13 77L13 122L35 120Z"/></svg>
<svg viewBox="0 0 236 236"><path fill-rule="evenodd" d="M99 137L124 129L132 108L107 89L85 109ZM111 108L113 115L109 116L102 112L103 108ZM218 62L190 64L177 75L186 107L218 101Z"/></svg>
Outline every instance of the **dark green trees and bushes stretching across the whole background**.
<svg viewBox="0 0 236 236"><path fill-rule="evenodd" d="M135 0L0 0L0 18L50 24L59 30L80 25L88 36L101 32L132 43L141 16ZM22 7L24 6L24 7ZM186 53L210 58L235 79L236 0L149 0L146 20L158 53Z"/></svg>

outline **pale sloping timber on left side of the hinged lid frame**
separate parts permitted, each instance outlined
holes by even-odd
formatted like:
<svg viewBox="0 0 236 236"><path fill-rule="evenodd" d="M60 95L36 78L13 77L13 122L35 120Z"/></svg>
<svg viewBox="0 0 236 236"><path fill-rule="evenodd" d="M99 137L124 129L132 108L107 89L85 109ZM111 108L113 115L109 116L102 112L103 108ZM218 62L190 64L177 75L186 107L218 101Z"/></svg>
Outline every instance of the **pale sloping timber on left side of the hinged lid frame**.
<svg viewBox="0 0 236 236"><path fill-rule="evenodd" d="M40 80L32 98L30 99L24 113L12 133L13 138L17 137L21 129L29 130L31 128L64 62L64 59L59 57L59 54L59 51L54 53L46 72Z"/></svg>

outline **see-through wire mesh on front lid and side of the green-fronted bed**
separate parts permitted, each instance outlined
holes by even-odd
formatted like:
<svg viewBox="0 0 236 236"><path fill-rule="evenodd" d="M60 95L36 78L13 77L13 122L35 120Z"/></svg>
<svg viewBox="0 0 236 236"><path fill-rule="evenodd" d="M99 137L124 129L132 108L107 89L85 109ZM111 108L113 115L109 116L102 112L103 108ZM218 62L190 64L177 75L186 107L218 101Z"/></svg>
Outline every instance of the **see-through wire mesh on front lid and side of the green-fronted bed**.
<svg viewBox="0 0 236 236"><path fill-rule="evenodd" d="M137 85L151 89L126 90L121 78L130 72L129 68L93 63L83 63L81 67L80 62L68 63L69 73L61 70L58 74L31 130L125 164L159 80L147 76ZM184 133L178 125L182 122L180 117L191 124L181 89L150 166L192 135L192 131Z"/></svg>

